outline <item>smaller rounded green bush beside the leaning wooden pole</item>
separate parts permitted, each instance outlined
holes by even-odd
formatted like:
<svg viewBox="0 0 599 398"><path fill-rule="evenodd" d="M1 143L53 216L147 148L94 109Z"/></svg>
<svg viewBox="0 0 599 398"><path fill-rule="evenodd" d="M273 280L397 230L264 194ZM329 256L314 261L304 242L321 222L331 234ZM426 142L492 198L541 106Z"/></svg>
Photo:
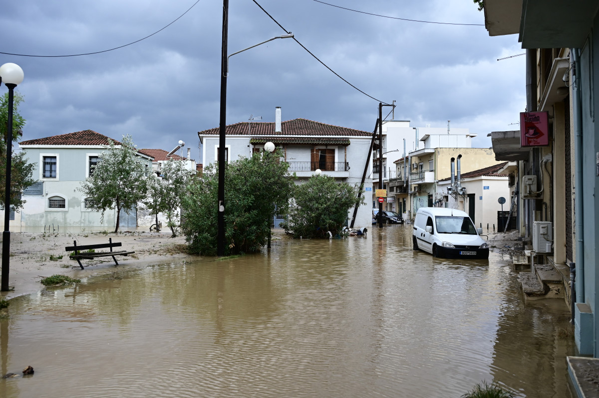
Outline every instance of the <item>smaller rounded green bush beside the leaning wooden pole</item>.
<svg viewBox="0 0 599 398"><path fill-rule="evenodd" d="M295 238L325 238L327 232L332 236L340 234L347 212L356 204L358 190L347 183L335 183L327 175L315 175L295 187L287 220L281 226Z"/></svg>

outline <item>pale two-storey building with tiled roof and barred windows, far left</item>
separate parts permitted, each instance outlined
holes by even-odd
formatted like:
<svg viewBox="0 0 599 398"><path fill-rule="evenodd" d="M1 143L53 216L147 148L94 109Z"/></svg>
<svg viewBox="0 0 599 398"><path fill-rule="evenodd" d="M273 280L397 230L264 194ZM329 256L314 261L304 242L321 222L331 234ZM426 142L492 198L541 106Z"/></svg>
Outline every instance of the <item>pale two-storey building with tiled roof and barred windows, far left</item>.
<svg viewBox="0 0 599 398"><path fill-rule="evenodd" d="M113 228L116 210L105 212L102 223L101 212L87 208L91 198L84 197L78 190L81 182L93 173L99 155L107 150L108 139L95 131L83 130L20 142L28 162L37 163L33 177L38 183L23 192L26 203L14 227ZM120 141L112 141L120 148ZM142 151L137 155L152 168L151 156ZM119 224L120 227L137 227L137 209L122 211Z"/></svg>

